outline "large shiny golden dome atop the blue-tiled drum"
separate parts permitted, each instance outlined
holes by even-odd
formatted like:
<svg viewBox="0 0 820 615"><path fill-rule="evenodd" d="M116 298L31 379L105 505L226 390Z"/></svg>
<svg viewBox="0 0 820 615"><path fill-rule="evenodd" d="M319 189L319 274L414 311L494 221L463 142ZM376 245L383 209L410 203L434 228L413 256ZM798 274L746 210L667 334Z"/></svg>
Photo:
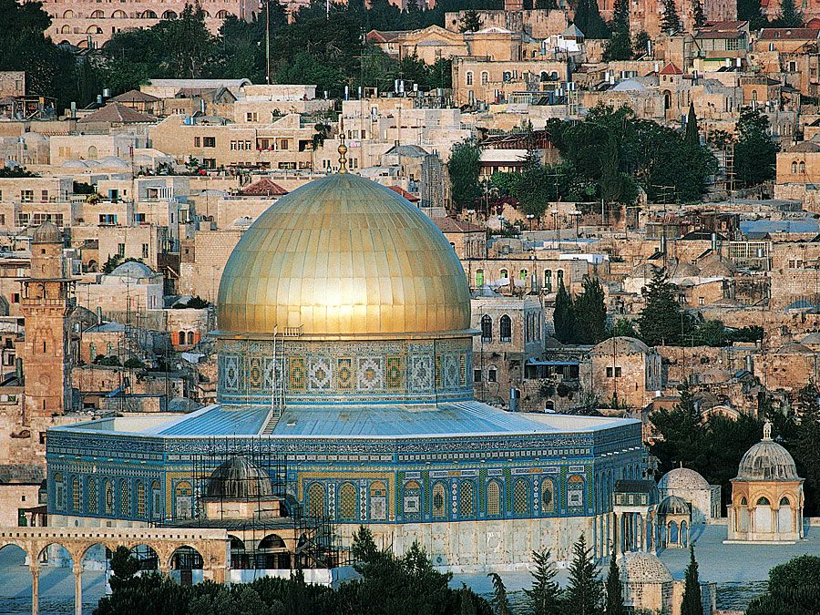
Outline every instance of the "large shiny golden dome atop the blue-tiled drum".
<svg viewBox="0 0 820 615"><path fill-rule="evenodd" d="M470 326L461 262L425 214L350 173L278 200L231 253L222 333L435 337ZM256 335L254 335L256 336Z"/></svg>

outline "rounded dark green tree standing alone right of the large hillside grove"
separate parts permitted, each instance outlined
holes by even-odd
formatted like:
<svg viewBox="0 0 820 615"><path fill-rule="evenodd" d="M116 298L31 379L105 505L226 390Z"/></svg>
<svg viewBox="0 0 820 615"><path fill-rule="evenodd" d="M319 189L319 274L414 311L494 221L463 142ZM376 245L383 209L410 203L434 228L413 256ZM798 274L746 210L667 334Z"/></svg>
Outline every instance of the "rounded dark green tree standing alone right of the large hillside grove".
<svg viewBox="0 0 820 615"><path fill-rule="evenodd" d="M743 108L737 121L734 170L745 186L774 179L777 144L768 134L769 119L756 108Z"/></svg>

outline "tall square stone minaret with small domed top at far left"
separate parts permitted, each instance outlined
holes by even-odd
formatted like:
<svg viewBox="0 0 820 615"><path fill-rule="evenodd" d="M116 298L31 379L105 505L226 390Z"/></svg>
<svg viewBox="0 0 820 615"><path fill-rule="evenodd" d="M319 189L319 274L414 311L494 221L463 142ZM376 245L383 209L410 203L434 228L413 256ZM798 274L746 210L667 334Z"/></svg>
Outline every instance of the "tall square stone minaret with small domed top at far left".
<svg viewBox="0 0 820 615"><path fill-rule="evenodd" d="M68 313L73 284L66 275L63 237L52 222L38 226L31 241L31 275L21 281L26 319L23 343L24 425L33 417L63 414L70 400Z"/></svg>

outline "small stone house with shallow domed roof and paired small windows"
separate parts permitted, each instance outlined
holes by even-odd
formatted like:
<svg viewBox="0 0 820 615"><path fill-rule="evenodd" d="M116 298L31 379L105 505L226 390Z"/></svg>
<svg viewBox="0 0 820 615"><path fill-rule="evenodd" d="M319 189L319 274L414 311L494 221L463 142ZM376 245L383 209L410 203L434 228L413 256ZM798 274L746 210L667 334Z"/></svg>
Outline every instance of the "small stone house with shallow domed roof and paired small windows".
<svg viewBox="0 0 820 615"><path fill-rule="evenodd" d="M642 408L662 388L661 355L634 337L612 337L589 353L589 390L602 401Z"/></svg>

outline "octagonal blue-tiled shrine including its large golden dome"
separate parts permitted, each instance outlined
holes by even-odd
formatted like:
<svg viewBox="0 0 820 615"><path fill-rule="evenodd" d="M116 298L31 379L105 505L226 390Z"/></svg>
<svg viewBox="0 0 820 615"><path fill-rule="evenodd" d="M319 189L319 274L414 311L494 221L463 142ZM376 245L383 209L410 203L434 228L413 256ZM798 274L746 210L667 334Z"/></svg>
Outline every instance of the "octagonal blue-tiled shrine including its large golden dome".
<svg viewBox="0 0 820 615"><path fill-rule="evenodd" d="M569 559L581 532L607 553L612 487L642 476L640 422L477 402L465 273L394 191L342 172L278 200L231 253L217 327L216 405L48 432L52 525L199 518L197 475L225 459L198 466L230 443L283 463L289 514L331 519L343 544L365 524L476 570Z"/></svg>

